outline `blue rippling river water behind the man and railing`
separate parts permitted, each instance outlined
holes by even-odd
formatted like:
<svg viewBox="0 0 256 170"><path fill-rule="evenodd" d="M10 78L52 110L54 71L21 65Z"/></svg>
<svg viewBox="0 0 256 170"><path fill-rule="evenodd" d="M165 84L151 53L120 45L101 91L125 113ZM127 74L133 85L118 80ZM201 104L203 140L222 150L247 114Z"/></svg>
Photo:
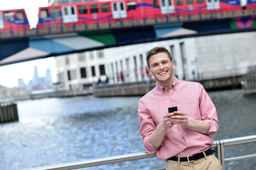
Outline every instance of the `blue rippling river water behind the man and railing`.
<svg viewBox="0 0 256 170"><path fill-rule="evenodd" d="M209 92L220 129L214 140L256 135L256 95L241 90ZM0 170L84 161L145 151L137 114L140 97L45 98L18 101L19 121L0 124ZM225 147L225 158L256 153L256 144ZM157 158L81 168L154 170ZM226 170L254 170L256 159L225 164ZM80 170L81 170L80 169Z"/></svg>

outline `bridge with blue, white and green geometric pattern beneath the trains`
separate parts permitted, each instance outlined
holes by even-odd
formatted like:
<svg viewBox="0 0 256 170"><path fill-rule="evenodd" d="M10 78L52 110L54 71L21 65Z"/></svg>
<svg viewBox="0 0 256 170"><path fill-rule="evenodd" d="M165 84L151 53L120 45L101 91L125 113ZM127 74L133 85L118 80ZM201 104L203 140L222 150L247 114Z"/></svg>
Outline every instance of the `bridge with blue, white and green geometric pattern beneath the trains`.
<svg viewBox="0 0 256 170"><path fill-rule="evenodd" d="M247 31L256 28L256 10L221 10L205 14L118 20L117 22L31 29L0 33L0 66L40 58L132 43L178 38L180 35ZM246 30L245 30L246 29Z"/></svg>

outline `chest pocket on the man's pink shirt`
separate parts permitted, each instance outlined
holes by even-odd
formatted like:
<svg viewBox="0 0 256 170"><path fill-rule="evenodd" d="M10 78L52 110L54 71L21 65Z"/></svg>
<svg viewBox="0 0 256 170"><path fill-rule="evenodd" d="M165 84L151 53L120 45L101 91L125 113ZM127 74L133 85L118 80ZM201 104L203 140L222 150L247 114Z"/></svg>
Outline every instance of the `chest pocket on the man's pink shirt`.
<svg viewBox="0 0 256 170"><path fill-rule="evenodd" d="M200 114L198 101L182 101L182 111L187 114L188 117L195 117Z"/></svg>

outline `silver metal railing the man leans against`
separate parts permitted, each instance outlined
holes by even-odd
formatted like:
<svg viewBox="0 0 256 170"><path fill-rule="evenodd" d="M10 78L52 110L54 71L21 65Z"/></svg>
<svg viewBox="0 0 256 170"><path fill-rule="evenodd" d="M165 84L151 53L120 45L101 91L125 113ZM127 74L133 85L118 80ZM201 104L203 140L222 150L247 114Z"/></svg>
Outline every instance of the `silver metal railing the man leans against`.
<svg viewBox="0 0 256 170"><path fill-rule="evenodd" d="M225 146L245 144L250 142L256 142L256 135L214 141L212 148L215 148L215 156L218 158L219 161L221 161L222 169L223 170L225 169L225 164L224 164L225 162L256 158L256 154L238 156L238 157L232 157L232 158L224 158ZM124 161L134 161L138 159L145 159L145 158L152 158L152 157L156 157L156 155L148 154L147 152L140 152L140 153L131 153L126 155L91 159L87 161L77 161L77 162L71 162L66 164L36 167L36 168L30 168L26 170L74 170L74 169L79 169L84 167L94 167L99 165L113 164L113 163L124 162ZM161 168L157 170L165 170L165 169L166 168Z"/></svg>

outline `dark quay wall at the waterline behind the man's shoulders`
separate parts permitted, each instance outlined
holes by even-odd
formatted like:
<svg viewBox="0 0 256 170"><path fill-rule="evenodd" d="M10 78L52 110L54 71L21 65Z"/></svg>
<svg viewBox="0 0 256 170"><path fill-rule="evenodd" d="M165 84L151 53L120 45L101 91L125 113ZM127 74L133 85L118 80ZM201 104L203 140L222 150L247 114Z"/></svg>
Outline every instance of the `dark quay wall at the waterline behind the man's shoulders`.
<svg viewBox="0 0 256 170"><path fill-rule="evenodd" d="M224 78L194 80L201 83L206 90L217 89L234 89L241 88L243 75L230 76ZM192 80L191 80L192 81ZM143 96L156 86L156 83L137 84L126 86L101 87L93 90L93 95L96 97L115 97L115 96Z"/></svg>

